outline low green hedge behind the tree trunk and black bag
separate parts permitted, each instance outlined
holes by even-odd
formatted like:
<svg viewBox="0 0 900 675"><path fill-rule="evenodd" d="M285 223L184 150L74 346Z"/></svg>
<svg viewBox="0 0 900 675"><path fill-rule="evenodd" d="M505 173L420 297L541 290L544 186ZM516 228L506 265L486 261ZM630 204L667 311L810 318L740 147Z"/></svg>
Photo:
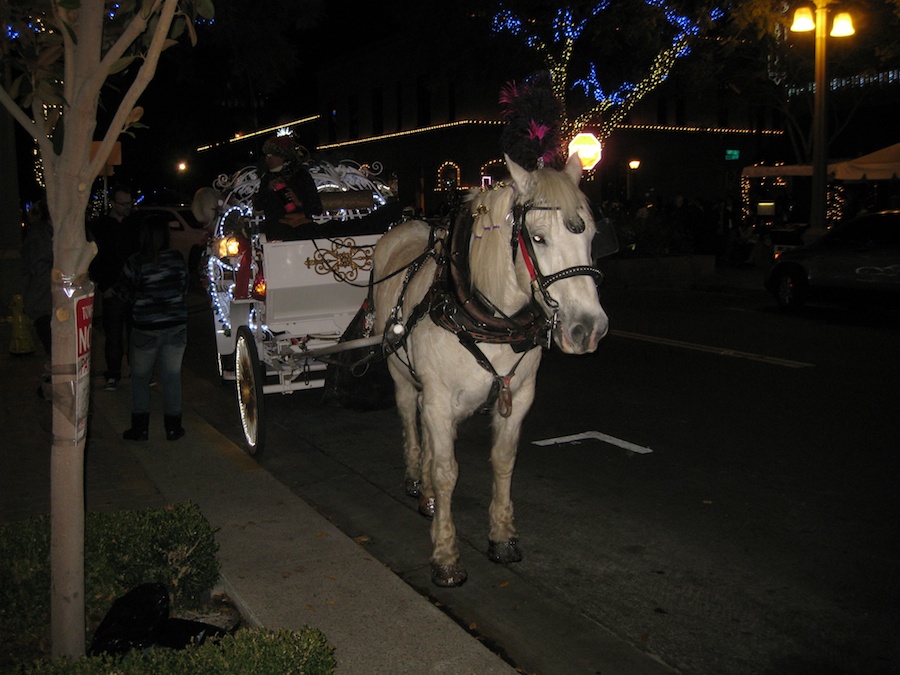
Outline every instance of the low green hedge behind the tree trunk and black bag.
<svg viewBox="0 0 900 675"><path fill-rule="evenodd" d="M171 605L194 609L219 580L215 530L196 504L87 513L84 594L88 633L113 601L158 581ZM88 640L88 643L90 640ZM50 519L0 525L0 671L50 644Z"/></svg>

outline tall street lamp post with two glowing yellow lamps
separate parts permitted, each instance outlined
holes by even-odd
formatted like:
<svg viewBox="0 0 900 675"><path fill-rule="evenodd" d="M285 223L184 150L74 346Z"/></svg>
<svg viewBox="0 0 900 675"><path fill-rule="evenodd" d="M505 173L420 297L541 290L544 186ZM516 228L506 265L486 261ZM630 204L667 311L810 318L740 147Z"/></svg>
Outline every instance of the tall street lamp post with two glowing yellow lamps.
<svg viewBox="0 0 900 675"><path fill-rule="evenodd" d="M812 12L808 7L797 9L794 14L794 23L791 30L796 32L804 32L813 29L815 24L816 31L816 94L813 105L813 128L812 128L812 202L809 209L809 224L814 229L824 229L825 227L825 193L826 193L826 161L827 161L827 134L825 124L825 92L827 82L825 79L825 56L827 48L828 30L828 5L831 0L815 0L816 15L813 20ZM845 37L853 35L853 22L850 15L842 12L835 19L834 28L831 35L834 37Z"/></svg>

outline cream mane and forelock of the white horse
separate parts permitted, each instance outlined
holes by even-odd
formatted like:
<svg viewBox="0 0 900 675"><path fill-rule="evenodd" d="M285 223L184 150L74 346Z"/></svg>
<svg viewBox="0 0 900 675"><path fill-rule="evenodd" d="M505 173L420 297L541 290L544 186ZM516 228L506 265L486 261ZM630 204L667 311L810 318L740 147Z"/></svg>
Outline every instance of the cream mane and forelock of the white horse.
<svg viewBox="0 0 900 675"><path fill-rule="evenodd" d="M565 171L551 168L539 169L530 174L529 185L500 184L490 190L476 190L470 199L472 243L469 251L472 286L504 311L515 310L530 300L522 290L524 283L510 283L517 273L513 269L511 253L512 209L517 191L521 201L531 201L537 206L553 206L560 209L561 219L554 219L562 226L567 221L578 221L588 210L588 199L578 189ZM592 227L592 223L586 223ZM589 233L593 236L593 232ZM520 273L523 272L520 270Z"/></svg>

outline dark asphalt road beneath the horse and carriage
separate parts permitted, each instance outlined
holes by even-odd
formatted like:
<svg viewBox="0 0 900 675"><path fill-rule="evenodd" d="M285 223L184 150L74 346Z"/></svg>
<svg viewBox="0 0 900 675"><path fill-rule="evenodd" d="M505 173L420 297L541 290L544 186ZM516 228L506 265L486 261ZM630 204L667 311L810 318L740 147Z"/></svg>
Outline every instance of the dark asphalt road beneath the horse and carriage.
<svg viewBox="0 0 900 675"><path fill-rule="evenodd" d="M394 410L270 395L259 461L524 672L623 672L616 640L683 673L900 671L900 317L788 316L762 293L603 302L598 352L551 351L539 374L513 483L521 563L484 556L484 417L457 443L458 589L428 580ZM211 325L192 317L188 398L239 442ZM584 432L605 440L534 444Z"/></svg>

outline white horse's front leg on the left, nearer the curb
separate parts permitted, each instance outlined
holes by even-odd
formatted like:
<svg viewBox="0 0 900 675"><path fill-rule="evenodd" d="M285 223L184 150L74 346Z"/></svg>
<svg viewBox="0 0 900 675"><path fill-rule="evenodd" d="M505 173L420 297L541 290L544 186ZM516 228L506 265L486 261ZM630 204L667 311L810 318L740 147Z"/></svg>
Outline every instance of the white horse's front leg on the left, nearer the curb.
<svg viewBox="0 0 900 675"><path fill-rule="evenodd" d="M431 412L429 412L431 411ZM434 490L434 519L431 521L431 580L437 586L460 586L468 574L459 560L456 526L451 502L459 465L454 454L456 422L434 413L434 406L422 411L425 455L430 463L431 488Z"/></svg>

